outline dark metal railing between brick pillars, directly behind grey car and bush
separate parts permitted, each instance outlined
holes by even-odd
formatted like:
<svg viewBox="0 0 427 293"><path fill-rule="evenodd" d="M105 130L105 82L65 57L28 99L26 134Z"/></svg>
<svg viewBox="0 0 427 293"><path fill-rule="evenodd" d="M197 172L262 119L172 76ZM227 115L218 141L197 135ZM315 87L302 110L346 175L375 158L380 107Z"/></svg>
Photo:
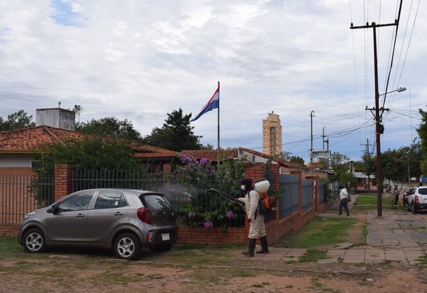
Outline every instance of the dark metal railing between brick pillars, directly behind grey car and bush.
<svg viewBox="0 0 427 293"><path fill-rule="evenodd" d="M178 223L187 226L244 227L244 209L220 194L207 191L221 190L221 182L211 178L200 183L176 178L170 174L140 170L75 170L72 190L88 188L134 188L163 193L177 211ZM225 193L230 190L223 190ZM232 195L237 197L237 195Z"/></svg>

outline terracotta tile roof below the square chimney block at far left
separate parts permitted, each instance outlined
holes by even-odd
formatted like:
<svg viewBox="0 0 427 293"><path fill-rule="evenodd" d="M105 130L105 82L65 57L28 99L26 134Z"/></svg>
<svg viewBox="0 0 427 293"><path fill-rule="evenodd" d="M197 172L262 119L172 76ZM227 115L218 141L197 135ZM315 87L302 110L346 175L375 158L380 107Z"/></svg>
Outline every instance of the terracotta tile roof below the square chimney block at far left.
<svg viewBox="0 0 427 293"><path fill-rule="evenodd" d="M44 145L63 143L68 138L79 139L81 134L45 125L0 131L0 152L39 152Z"/></svg>

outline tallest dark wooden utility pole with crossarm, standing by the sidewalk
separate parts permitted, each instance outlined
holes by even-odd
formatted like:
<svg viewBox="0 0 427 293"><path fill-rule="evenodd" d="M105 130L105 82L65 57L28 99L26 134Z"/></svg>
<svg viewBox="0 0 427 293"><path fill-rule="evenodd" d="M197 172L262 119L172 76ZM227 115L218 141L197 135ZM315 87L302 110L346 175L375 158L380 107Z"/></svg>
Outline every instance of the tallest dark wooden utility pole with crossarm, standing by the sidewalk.
<svg viewBox="0 0 427 293"><path fill-rule="evenodd" d="M400 11L402 9L402 0L400 1ZM399 16L400 17L400 16ZM376 28L377 27L390 27L395 25L398 26L399 21L395 20L394 23L388 23L385 25L376 25L372 22L372 25L367 23L360 27L354 27L353 23L350 25L350 29L367 29L372 28L374 33L374 77L375 77L375 132L376 132L376 216L381 218L383 216L383 178L381 174L381 134L383 133L383 125L381 125L381 116L379 113L379 86L378 86L378 57L376 55ZM382 110L383 112L383 110ZM381 112L381 115L382 115Z"/></svg>

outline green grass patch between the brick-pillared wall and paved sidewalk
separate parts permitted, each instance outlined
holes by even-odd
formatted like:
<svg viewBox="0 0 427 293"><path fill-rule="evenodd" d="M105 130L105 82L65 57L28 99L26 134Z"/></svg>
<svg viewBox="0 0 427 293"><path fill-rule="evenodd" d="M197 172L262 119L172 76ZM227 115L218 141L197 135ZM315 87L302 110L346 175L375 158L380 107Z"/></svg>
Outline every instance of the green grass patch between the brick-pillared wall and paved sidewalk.
<svg viewBox="0 0 427 293"><path fill-rule="evenodd" d="M357 223L352 218L315 218L306 226L282 237L275 243L275 247L309 248L316 246L331 246L346 240L351 226Z"/></svg>

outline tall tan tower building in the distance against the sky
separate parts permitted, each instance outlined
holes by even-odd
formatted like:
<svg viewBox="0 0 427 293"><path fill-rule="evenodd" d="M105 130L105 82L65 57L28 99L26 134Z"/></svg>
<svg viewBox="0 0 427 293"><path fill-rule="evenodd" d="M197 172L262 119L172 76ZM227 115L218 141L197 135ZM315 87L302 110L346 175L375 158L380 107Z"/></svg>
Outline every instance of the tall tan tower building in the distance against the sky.
<svg viewBox="0 0 427 293"><path fill-rule="evenodd" d="M267 119L263 119L263 153L280 155L282 153L282 125L279 115L271 111Z"/></svg>

